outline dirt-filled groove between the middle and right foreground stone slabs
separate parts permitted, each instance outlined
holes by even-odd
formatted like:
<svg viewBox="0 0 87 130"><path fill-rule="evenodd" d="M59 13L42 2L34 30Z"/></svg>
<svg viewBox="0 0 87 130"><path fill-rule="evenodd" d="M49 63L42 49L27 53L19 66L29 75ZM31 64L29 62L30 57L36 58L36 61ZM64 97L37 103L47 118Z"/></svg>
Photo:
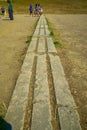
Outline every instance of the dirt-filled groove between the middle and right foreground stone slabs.
<svg viewBox="0 0 87 130"><path fill-rule="evenodd" d="M51 123L53 130L60 130L58 111L57 111L57 101L55 95L55 88L53 82L53 76L51 72L50 59L47 55L47 73L48 73L48 83L49 83L49 97L50 97L50 109L51 109Z"/></svg>

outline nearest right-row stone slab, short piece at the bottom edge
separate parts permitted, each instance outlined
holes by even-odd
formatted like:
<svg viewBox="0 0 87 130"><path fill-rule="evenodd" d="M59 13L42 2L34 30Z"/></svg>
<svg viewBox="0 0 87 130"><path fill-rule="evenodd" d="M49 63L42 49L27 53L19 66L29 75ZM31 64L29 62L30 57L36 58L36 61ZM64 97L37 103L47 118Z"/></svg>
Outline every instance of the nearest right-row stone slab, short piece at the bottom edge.
<svg viewBox="0 0 87 130"><path fill-rule="evenodd" d="M58 113L61 130L82 130L76 110L70 107L59 107Z"/></svg>

